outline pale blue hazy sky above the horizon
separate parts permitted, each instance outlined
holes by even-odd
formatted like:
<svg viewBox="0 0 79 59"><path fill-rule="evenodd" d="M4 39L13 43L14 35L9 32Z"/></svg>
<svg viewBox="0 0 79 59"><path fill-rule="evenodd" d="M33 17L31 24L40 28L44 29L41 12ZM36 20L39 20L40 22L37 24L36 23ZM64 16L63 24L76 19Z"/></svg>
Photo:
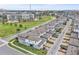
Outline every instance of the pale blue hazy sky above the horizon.
<svg viewBox="0 0 79 59"><path fill-rule="evenodd" d="M0 9L30 10L30 4L0 4ZM31 4L31 10L79 10L79 4Z"/></svg>

